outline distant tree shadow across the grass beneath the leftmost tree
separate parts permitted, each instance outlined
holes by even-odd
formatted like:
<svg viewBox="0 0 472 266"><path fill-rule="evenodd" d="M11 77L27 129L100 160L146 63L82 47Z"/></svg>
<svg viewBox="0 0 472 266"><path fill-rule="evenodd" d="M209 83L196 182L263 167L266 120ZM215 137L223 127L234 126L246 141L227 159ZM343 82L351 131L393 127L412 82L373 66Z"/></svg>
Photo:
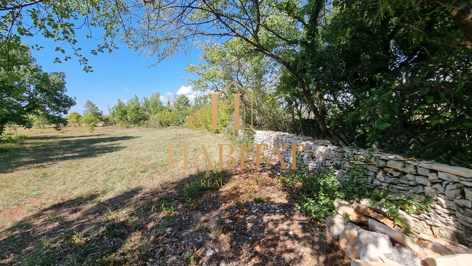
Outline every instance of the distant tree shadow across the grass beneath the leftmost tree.
<svg viewBox="0 0 472 266"><path fill-rule="evenodd" d="M125 146L117 142L137 136L40 136L21 140L23 148L0 153L0 173L20 166L95 157ZM40 140L40 141L38 141ZM26 160L25 160L26 158Z"/></svg>

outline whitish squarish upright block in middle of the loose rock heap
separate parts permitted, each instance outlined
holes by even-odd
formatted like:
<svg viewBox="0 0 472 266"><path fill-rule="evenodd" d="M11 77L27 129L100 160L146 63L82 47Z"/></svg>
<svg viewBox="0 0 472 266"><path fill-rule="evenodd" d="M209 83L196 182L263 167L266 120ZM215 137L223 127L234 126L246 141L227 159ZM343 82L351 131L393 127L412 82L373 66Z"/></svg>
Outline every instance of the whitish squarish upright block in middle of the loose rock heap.
<svg viewBox="0 0 472 266"><path fill-rule="evenodd" d="M383 233L359 230L357 232L359 242L359 257L367 262L383 262L383 254L392 249L390 237Z"/></svg>

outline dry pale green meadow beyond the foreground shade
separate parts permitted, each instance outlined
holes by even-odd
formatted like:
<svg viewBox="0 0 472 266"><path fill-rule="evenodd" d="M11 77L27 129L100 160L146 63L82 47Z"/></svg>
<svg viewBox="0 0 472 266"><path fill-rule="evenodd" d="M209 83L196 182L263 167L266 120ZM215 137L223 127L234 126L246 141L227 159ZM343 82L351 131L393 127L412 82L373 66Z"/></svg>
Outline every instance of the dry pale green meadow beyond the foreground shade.
<svg viewBox="0 0 472 266"><path fill-rule="evenodd" d="M131 189L162 188L197 169L182 169L183 155L168 166L168 146L188 143L189 166L202 145L213 163L218 158L218 143L228 141L203 131L173 129L97 128L87 133L83 128L19 130L28 137L19 139L8 151L0 153L0 219L5 225L5 209L40 199L57 199L97 193L112 197ZM178 148L180 147L180 148ZM199 159L203 159L203 154ZM197 164L206 168L205 162ZM27 210L30 207L27 206Z"/></svg>

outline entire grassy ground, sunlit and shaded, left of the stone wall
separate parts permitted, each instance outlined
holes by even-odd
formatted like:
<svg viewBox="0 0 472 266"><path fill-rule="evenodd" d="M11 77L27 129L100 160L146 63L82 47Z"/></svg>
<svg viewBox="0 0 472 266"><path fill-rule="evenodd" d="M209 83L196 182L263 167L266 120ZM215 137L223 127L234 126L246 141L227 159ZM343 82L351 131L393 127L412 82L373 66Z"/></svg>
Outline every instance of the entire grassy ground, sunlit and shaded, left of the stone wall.
<svg viewBox="0 0 472 266"><path fill-rule="evenodd" d="M166 169L167 144L174 153L189 144L189 166L205 145L216 165L217 144L229 143L217 135L111 127L18 133L28 136L0 143L0 265L349 264L296 208L277 167L182 169L180 154ZM202 187L202 179L222 187Z"/></svg>

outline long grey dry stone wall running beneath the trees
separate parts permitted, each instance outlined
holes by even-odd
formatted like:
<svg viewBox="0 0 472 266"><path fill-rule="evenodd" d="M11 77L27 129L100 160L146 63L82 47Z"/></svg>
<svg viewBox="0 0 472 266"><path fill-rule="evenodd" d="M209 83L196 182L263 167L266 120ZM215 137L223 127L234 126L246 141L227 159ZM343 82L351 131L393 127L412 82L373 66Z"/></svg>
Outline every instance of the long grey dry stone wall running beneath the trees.
<svg viewBox="0 0 472 266"><path fill-rule="evenodd" d="M310 170L333 166L339 181L349 178L351 169L364 186L377 187L413 197L422 202L434 200L431 212L412 214L412 231L451 240L471 247L472 244L472 170L436 162L419 162L400 155L370 152L354 147L338 147L325 140L282 133L257 131L254 142L267 144L267 157L277 159L277 145L285 163L292 163L292 149L297 147L297 164Z"/></svg>

